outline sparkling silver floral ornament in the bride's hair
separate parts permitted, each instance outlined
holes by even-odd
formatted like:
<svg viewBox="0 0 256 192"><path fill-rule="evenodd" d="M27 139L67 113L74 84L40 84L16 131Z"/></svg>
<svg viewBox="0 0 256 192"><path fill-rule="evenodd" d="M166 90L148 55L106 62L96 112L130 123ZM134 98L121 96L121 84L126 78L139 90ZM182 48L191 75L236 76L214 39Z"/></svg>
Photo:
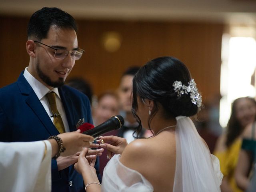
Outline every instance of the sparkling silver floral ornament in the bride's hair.
<svg viewBox="0 0 256 192"><path fill-rule="evenodd" d="M188 86L182 84L180 81L175 81L172 86L174 87L174 91L177 93L178 97L183 94L188 95L188 93L190 93L191 102L200 108L202 105L202 96L198 93L194 79L191 79L190 82L188 82Z"/></svg>

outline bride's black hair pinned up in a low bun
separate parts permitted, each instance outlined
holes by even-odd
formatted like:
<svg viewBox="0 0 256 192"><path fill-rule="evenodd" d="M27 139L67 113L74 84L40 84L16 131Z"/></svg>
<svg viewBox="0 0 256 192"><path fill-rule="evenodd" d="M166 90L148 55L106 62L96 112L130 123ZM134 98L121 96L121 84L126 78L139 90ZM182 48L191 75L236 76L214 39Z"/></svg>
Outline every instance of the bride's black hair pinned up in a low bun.
<svg viewBox="0 0 256 192"><path fill-rule="evenodd" d="M140 96L158 102L167 117L193 116L198 112L198 106L192 103L192 93L179 95L173 86L175 81L188 86L190 80L190 72L180 60L173 57L153 59L140 68L134 77L133 101ZM136 106L133 107L136 109Z"/></svg>

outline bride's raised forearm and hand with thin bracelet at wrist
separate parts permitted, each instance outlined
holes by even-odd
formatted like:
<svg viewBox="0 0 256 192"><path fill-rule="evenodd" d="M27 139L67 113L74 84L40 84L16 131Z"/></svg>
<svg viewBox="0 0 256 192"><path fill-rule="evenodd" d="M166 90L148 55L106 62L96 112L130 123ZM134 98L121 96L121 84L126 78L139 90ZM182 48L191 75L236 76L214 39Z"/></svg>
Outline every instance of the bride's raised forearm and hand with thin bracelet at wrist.
<svg viewBox="0 0 256 192"><path fill-rule="evenodd" d="M96 155L89 156L92 159L89 163L85 158L86 152L88 152L87 148L82 150L78 157L78 162L74 165L74 168L77 172L82 174L84 185L86 186L86 192L100 192L101 186L94 168Z"/></svg>

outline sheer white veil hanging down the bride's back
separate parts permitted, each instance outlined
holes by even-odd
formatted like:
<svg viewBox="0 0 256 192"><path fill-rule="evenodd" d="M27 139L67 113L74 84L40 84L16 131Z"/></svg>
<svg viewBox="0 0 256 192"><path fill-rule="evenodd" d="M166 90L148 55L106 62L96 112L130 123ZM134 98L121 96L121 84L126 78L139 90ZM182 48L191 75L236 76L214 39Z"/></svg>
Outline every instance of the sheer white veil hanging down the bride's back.
<svg viewBox="0 0 256 192"><path fill-rule="evenodd" d="M176 120L173 192L220 192L223 174L218 158L210 154L190 118L178 116Z"/></svg>

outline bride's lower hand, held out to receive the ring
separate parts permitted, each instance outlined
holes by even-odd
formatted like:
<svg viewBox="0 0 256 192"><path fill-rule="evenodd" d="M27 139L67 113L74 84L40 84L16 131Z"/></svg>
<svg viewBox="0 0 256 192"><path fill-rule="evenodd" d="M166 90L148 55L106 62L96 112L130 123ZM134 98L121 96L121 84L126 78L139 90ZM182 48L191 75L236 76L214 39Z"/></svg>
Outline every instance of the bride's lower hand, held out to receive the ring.
<svg viewBox="0 0 256 192"><path fill-rule="evenodd" d="M93 172L96 173L96 170L94 168L95 161L96 161L96 155L90 155L87 153L88 153L88 148L83 149L80 152L78 161L74 164L75 170L80 174L83 174L86 171L88 172L88 170L92 170ZM88 162L88 160L90 162Z"/></svg>

